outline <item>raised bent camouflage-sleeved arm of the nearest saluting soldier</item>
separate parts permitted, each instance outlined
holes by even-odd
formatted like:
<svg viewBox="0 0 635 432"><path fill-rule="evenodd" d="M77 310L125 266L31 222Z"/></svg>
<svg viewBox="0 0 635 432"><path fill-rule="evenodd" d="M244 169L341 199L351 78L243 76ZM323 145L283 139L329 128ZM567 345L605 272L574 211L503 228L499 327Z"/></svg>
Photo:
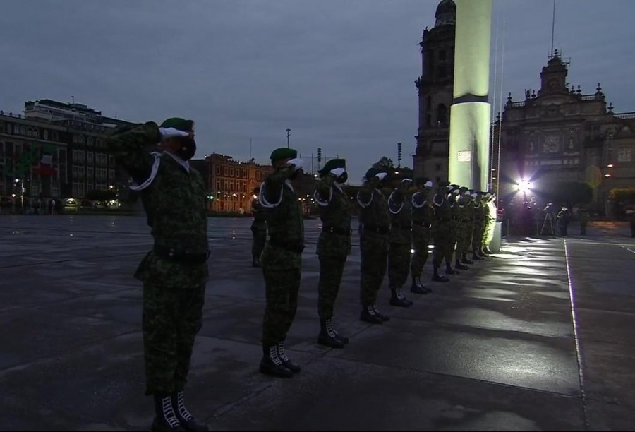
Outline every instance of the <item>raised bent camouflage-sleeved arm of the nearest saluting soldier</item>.
<svg viewBox="0 0 635 432"><path fill-rule="evenodd" d="M161 140L159 126L154 121L137 126L119 128L106 140L106 144L126 172L137 183L143 183L152 172L155 158L147 152L147 146Z"/></svg>

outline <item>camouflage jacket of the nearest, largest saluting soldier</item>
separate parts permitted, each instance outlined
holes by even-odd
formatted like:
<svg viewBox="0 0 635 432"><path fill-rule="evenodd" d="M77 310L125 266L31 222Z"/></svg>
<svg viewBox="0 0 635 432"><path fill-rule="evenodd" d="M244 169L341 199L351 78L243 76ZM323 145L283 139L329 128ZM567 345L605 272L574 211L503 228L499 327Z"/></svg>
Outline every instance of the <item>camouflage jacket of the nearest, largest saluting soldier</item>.
<svg viewBox="0 0 635 432"><path fill-rule="evenodd" d="M164 282L176 278L179 283L185 283L183 279L198 283L207 277L207 263L183 272L182 261L162 256L166 251L179 257L207 253L205 182L193 167L186 169L171 155L144 150L159 139L157 124L148 122L115 131L107 140L116 161L140 185L137 190L155 240L155 252L146 256L136 276L145 281L165 272Z"/></svg>

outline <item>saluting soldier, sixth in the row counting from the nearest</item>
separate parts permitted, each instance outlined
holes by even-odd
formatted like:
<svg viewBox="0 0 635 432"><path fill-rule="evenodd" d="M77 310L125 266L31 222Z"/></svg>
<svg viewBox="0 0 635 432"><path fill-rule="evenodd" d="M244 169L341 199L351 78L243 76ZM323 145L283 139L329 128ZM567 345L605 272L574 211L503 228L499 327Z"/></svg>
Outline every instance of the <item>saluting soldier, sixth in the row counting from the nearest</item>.
<svg viewBox="0 0 635 432"><path fill-rule="evenodd" d="M434 219L432 203L428 202L428 195L433 186L432 181L419 177L415 179L416 191L412 194L412 246L414 254L410 264L412 272L412 286L410 291L415 294L428 294L432 289L421 283L421 270L428 260L428 244L430 243L430 227Z"/></svg>

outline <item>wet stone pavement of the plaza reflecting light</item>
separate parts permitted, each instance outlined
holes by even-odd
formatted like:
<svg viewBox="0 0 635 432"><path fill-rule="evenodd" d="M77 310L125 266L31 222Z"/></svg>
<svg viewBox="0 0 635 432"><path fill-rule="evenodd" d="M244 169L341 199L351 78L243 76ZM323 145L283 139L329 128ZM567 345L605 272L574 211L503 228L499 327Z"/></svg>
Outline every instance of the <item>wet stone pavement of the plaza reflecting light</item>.
<svg viewBox="0 0 635 432"><path fill-rule="evenodd" d="M212 280L187 397L212 429L635 427L635 239L625 224L506 239L451 282L430 282L433 294L413 295L411 308L388 306L385 286L378 307L392 319L375 326L358 320L353 247L335 320L351 342L337 350L316 344L319 221L307 220L287 340L303 371L291 380L258 373L264 283L250 267L249 224L210 219ZM0 217L0 430L147 430L132 274L150 245L143 217Z"/></svg>

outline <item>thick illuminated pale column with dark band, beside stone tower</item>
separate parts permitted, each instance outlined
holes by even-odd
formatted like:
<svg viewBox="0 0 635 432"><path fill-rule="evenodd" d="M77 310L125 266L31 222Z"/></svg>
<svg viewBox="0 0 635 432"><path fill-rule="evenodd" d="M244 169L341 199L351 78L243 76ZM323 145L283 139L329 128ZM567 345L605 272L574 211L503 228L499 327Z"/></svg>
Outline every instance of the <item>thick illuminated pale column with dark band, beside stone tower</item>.
<svg viewBox="0 0 635 432"><path fill-rule="evenodd" d="M490 171L490 31L492 0L454 0L454 101L450 108L449 181L477 191Z"/></svg>

